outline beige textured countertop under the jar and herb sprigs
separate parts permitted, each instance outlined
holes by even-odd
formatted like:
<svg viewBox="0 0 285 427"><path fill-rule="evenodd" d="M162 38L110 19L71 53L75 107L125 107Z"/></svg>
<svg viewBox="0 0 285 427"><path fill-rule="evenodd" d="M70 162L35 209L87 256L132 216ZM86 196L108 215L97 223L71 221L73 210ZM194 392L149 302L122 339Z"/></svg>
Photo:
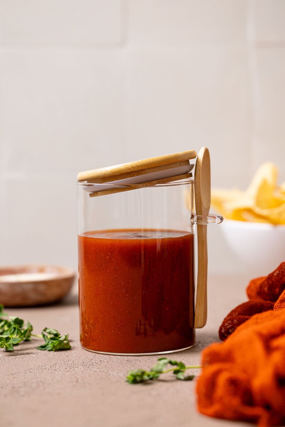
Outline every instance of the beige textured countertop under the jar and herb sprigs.
<svg viewBox="0 0 285 427"><path fill-rule="evenodd" d="M169 357L187 365L200 363L201 350L218 340L224 316L246 300L248 278L209 278L209 315L197 330L196 345ZM85 351L79 343L76 287L62 304L30 309L7 309L28 319L34 332L48 326L69 333L72 349L53 352L35 348L41 339L21 343L13 353L0 350L2 411L0 425L70 427L188 427L245 426L200 415L195 381L163 380L128 384L128 370L151 368L158 356L109 356ZM195 370L199 374L199 370ZM252 425L252 424L248 424Z"/></svg>

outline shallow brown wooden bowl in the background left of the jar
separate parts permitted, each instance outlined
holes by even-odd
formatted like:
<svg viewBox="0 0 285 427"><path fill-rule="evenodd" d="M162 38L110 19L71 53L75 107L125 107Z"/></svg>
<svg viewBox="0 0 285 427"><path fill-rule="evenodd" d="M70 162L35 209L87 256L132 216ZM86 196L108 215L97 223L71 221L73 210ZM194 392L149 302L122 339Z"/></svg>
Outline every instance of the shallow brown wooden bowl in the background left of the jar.
<svg viewBox="0 0 285 427"><path fill-rule="evenodd" d="M75 272L60 266L0 267L0 303L6 307L34 306L64 297Z"/></svg>

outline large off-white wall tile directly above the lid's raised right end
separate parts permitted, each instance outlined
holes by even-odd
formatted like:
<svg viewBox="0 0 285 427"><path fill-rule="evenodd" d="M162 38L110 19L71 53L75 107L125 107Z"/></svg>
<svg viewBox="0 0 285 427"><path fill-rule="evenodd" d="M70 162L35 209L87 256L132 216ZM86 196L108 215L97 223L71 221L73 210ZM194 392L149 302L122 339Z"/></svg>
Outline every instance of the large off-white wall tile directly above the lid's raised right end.
<svg viewBox="0 0 285 427"><path fill-rule="evenodd" d="M209 67L211 64L211 67ZM245 48L130 47L127 129L132 158L203 145L213 185L247 181L248 74ZM232 156L234 147L239 147ZM231 159L231 161L228 161ZM224 184L223 184L224 185Z"/></svg>

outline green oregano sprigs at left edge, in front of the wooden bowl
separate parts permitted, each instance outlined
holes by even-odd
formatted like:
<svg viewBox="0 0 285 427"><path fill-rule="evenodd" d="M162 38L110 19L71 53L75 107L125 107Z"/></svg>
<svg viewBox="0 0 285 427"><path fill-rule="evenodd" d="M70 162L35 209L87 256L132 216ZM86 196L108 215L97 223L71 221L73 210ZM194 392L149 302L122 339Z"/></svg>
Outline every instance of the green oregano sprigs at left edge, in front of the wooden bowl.
<svg viewBox="0 0 285 427"><path fill-rule="evenodd" d="M32 336L44 338L45 344L39 345L39 350L59 351L68 350L71 348L68 341L68 334L60 335L56 329L44 328L41 335L32 333L32 324L27 321L26 325L24 320L17 316L8 316L3 312L4 306L0 304L0 348L6 351L14 351L14 346L18 345L21 341L31 341ZM5 319L4 317L7 317Z"/></svg>

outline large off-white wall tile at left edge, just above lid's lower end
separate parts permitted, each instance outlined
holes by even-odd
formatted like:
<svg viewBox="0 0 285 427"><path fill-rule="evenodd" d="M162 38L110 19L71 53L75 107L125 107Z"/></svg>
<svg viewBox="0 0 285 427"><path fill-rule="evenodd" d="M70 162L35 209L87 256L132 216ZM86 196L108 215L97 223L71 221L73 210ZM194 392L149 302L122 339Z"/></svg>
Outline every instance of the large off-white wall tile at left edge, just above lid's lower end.
<svg viewBox="0 0 285 427"><path fill-rule="evenodd" d="M10 174L73 172L76 178L117 156L123 161L123 50L13 47L1 55Z"/></svg>

